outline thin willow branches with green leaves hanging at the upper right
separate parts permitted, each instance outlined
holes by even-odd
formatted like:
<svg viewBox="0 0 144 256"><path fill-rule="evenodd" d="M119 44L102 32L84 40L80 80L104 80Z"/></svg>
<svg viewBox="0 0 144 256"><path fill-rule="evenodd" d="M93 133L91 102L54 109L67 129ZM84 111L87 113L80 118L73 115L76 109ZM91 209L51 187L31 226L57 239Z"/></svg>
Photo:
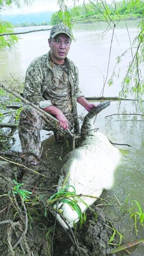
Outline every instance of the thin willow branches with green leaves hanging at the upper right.
<svg viewBox="0 0 144 256"><path fill-rule="evenodd" d="M79 0L73 0L73 3L78 3ZM65 24L67 24L70 28L72 27L72 22L70 21L72 17L70 16L70 12L67 6L68 0L58 0L58 4L60 6L60 11L58 12L58 16L60 20L63 20ZM99 8L99 3L102 4L102 16L104 20L108 22L108 30L111 29L113 31L111 38L111 45L109 48L109 61L111 58L111 46L113 44L113 36L115 32L116 25L118 21L115 21L114 16L117 15L120 20L120 12L118 12L118 8L116 8L116 1L113 1L113 13L111 12L109 5L106 1L103 0L89 0L86 3L91 3L95 8ZM83 6L86 8L86 3L83 1ZM123 5L127 4L127 11L132 12L132 10L136 10L136 8L141 8L141 21L138 26L138 33L136 38L134 38L131 43L131 47L127 49L127 51L123 52L121 56L118 56L116 65L123 60L123 56L127 54L127 52L131 52L131 61L129 62L129 66L127 67L127 71L125 73L125 77L122 81L122 90L120 92L120 97L126 98L129 93L134 95L135 99L143 100L144 94L144 1L142 0L127 0L123 1ZM119 7L119 4L118 4ZM120 9L120 8L119 8ZM121 9L120 9L121 10ZM99 9L100 11L100 9ZM122 11L122 10L121 10ZM109 72L109 61L108 61L108 72ZM115 65L115 67L116 67ZM106 75L106 79L104 81L104 86L109 84L111 86L113 84L113 78L115 76L115 69L113 70L113 74L111 74L111 78L108 81L108 72Z"/></svg>

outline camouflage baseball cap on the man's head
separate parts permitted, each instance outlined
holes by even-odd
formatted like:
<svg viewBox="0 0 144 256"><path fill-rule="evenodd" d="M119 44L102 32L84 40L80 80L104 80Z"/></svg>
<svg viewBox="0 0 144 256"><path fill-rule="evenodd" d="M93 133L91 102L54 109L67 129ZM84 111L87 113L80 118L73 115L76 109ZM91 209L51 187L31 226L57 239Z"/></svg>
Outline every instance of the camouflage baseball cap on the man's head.
<svg viewBox="0 0 144 256"><path fill-rule="evenodd" d="M53 26L51 28L50 37L54 38L56 35L61 33L66 34L72 40L72 33L70 32L70 29L63 24L58 24L56 26Z"/></svg>

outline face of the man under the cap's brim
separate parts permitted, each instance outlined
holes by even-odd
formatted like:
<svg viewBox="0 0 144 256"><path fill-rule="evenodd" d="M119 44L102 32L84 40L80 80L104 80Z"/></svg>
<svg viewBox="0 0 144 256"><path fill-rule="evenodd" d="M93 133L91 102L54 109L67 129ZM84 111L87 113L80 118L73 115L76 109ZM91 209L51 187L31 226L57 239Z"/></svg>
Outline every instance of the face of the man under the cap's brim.
<svg viewBox="0 0 144 256"><path fill-rule="evenodd" d="M58 64L63 64L65 57L70 49L71 40L65 34L59 34L54 38L48 40L49 47L51 48L51 58Z"/></svg>

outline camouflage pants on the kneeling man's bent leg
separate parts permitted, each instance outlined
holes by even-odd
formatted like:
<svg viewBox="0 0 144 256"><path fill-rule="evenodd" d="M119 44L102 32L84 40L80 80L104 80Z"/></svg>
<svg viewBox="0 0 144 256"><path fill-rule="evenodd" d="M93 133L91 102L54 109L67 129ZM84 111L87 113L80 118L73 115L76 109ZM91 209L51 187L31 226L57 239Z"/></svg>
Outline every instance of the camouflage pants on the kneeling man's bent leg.
<svg viewBox="0 0 144 256"><path fill-rule="evenodd" d="M47 125L40 113L34 108L24 108L19 118L19 138L22 147L22 155L33 155L37 159L41 156L40 130L53 131L56 140L60 138L58 130ZM21 156L22 156L21 155Z"/></svg>

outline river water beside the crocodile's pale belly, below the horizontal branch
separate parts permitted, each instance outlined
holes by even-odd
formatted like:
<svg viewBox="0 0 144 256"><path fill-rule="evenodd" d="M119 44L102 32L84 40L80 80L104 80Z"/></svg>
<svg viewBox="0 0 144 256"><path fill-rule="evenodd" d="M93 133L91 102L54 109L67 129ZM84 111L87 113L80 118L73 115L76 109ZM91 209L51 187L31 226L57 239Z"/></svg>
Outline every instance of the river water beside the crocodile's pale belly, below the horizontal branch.
<svg viewBox="0 0 144 256"><path fill-rule="evenodd" d="M115 172L113 189L104 191L102 194L102 197L104 196L108 202L111 202L111 206L104 207L104 211L116 221L120 232L124 235L123 243L127 243L143 238L143 227L138 224L138 237L136 237L134 219L130 216L132 212L138 211L133 200L138 200L144 211L144 116L141 116L144 113L140 111L138 102L129 101L123 101L121 104L111 102L109 109L104 109L104 111L97 116L95 125L100 127L100 131L107 134L113 143L131 145L131 147L116 145L122 149L122 162ZM107 113L111 115L111 118L110 116L104 118ZM124 252L118 255L124 256ZM139 246L137 250L134 249L131 255L142 256L143 246Z"/></svg>

